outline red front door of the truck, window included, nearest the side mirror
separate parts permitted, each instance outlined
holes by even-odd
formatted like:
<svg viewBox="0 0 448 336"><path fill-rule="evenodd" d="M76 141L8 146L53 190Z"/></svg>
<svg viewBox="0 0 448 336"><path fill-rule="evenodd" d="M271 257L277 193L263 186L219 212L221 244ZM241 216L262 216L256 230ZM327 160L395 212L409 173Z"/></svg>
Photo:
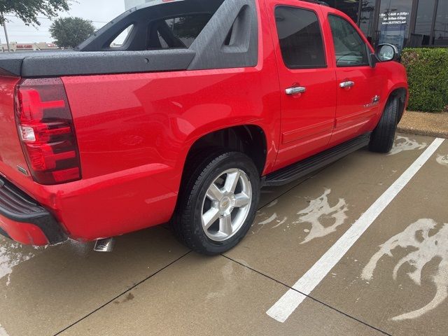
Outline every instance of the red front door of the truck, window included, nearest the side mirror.
<svg viewBox="0 0 448 336"><path fill-rule="evenodd" d="M330 10L330 9L328 9ZM369 65L370 47L348 19L328 13L336 60L337 111L330 145L336 145L371 129L379 111L385 83Z"/></svg>

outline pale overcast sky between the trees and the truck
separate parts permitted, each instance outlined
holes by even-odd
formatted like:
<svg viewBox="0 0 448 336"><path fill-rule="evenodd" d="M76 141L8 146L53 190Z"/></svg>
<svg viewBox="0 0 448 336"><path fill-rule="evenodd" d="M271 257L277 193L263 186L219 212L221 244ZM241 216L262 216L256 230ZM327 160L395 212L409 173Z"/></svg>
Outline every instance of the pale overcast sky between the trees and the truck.
<svg viewBox="0 0 448 336"><path fill-rule="evenodd" d="M116 18L118 15L125 11L124 0L75 0L77 3L71 5L69 12L62 12L59 18L65 18L68 16L78 16L87 20L91 20L93 25L97 28L101 28L106 25L107 22ZM52 42L48 29L50 28L51 21L45 18L43 15L39 15L41 18L41 26L35 28L33 26L25 25L21 20L13 16L7 17L10 22L6 24L8 29L8 36L10 42L18 43L33 43L33 42ZM1 43L6 43L3 27L0 29Z"/></svg>

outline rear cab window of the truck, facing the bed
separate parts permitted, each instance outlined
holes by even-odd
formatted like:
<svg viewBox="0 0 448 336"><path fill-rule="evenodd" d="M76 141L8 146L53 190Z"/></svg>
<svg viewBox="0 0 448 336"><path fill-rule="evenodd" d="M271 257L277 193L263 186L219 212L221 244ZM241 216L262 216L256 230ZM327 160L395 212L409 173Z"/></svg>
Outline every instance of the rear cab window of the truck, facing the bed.
<svg viewBox="0 0 448 336"><path fill-rule="evenodd" d="M183 15L153 22L148 49L190 48L213 14Z"/></svg>

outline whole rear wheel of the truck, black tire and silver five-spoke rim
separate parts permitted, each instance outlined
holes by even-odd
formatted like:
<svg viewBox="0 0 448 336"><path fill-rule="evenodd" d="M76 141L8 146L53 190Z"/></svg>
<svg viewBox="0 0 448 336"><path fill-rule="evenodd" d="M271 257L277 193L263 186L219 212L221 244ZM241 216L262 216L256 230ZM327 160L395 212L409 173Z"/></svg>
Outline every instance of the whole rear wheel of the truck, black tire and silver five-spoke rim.
<svg viewBox="0 0 448 336"><path fill-rule="evenodd" d="M239 152L199 161L193 162L197 168L179 195L174 232L194 251L216 255L237 245L251 228L260 175L253 161Z"/></svg>

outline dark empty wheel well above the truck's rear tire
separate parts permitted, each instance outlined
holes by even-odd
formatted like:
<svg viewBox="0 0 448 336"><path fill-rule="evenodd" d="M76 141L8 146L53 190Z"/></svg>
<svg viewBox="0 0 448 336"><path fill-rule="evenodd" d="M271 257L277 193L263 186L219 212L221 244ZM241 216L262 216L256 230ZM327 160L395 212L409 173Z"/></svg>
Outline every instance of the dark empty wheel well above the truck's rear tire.
<svg viewBox="0 0 448 336"><path fill-rule="evenodd" d="M226 128L204 135L198 139L188 152L186 167L192 158L207 150L225 149L246 154L255 163L260 176L265 169L267 143L265 132L255 125L245 125Z"/></svg>

